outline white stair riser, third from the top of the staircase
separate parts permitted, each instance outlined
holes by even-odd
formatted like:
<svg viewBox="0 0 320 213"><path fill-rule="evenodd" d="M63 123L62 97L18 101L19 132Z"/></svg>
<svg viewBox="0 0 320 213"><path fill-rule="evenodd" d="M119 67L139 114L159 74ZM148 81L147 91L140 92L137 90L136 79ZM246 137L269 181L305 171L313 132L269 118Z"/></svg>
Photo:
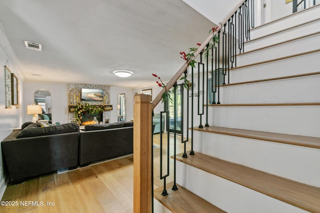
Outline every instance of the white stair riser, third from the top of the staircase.
<svg viewBox="0 0 320 213"><path fill-rule="evenodd" d="M320 44L320 33L266 49L239 55L236 59L237 66L272 60L320 48L320 45L316 44Z"/></svg>

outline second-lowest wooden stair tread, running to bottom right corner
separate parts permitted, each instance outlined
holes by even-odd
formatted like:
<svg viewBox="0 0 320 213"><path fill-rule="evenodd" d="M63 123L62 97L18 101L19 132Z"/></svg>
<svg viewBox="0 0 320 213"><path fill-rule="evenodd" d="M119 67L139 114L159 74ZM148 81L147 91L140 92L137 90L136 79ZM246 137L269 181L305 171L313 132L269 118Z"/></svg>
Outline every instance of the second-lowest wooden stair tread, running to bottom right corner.
<svg viewBox="0 0 320 213"><path fill-rule="evenodd" d="M201 153L176 160L300 209L320 213L320 188L301 184ZM171 157L172 158L172 157Z"/></svg>

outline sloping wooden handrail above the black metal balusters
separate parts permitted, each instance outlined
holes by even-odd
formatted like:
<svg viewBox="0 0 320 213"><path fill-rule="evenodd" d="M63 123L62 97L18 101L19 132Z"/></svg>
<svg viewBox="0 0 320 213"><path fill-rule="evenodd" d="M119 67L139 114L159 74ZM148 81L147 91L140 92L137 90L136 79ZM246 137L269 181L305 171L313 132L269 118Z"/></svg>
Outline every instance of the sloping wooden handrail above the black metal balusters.
<svg viewBox="0 0 320 213"><path fill-rule="evenodd" d="M229 18L234 14L234 12L244 3L245 0L241 0L231 12L229 12L226 17L219 23L219 28L221 29L224 23L226 23ZM212 37L217 34L217 31L214 31L213 33L210 33L209 36L202 42L201 46L198 47L198 49L194 52L194 58L196 58L200 52L205 48L206 44L210 42ZM174 83L180 78L180 76L183 74L183 72L188 68L189 63L185 61L185 63L181 66L181 68L175 73L175 75L169 80L169 82L165 85L165 87L162 88L162 90L157 94L157 96L152 101L152 109L156 107L156 105L160 102L162 99L162 94L165 91L168 91Z"/></svg>

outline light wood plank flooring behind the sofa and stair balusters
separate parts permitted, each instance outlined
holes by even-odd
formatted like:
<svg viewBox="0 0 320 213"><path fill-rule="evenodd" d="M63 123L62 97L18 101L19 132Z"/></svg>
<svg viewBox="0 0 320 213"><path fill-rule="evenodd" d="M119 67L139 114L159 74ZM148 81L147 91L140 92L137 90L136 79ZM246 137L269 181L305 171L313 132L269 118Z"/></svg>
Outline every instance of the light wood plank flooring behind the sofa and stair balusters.
<svg viewBox="0 0 320 213"><path fill-rule="evenodd" d="M159 134L153 143L159 145ZM166 138L166 134L163 134ZM170 134L169 155L173 155L173 136ZM176 153L183 152L180 137ZM166 143L163 144L166 149ZM190 142L186 150L190 150ZM153 149L154 188L163 186L159 180L160 149ZM166 167L166 152L162 153ZM169 158L173 180L173 160ZM166 168L163 168L166 172ZM93 164L65 173L48 173L8 185L1 201L1 213L131 213L133 209L133 156ZM33 202L33 203L31 203ZM2 203L1 203L2 204ZM15 206L12 206L17 204Z"/></svg>

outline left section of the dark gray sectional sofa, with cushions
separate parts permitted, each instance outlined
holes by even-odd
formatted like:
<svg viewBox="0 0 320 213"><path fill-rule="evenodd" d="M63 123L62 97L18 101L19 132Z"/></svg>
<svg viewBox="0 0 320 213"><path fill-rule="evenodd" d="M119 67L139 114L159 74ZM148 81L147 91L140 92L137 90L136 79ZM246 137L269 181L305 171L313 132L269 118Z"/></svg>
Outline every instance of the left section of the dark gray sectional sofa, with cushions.
<svg viewBox="0 0 320 213"><path fill-rule="evenodd" d="M79 127L63 124L41 128L30 124L1 142L11 181L73 168L78 164Z"/></svg>

